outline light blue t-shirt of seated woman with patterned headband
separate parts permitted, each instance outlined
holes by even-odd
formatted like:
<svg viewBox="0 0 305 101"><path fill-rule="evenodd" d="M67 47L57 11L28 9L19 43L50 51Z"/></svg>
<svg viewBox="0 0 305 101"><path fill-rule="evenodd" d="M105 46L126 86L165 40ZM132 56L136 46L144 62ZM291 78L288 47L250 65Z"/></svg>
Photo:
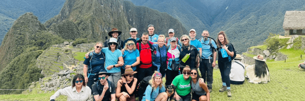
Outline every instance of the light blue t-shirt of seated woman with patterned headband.
<svg viewBox="0 0 305 101"><path fill-rule="evenodd" d="M151 92L151 86L148 85L146 87L145 92L144 92L145 95L143 96L142 101L145 101L146 99L147 100L155 100L157 98L157 96L159 95L159 93L161 93L161 92L165 92L165 87L163 86L163 84L162 84L161 89L158 86L156 89L154 89L153 92Z"/></svg>

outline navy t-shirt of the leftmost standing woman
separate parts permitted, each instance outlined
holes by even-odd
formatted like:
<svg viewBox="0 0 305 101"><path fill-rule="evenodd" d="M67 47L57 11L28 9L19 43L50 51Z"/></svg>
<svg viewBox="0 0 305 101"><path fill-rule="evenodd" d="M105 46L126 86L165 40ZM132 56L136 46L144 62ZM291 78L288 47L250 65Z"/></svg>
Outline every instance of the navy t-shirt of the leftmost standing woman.
<svg viewBox="0 0 305 101"><path fill-rule="evenodd" d="M103 52L100 52L99 54L96 54L95 52L92 52L89 54L89 58L85 59L85 61L83 62L83 64L88 65L88 71L87 73L91 73L91 74L97 74L100 71L104 71L105 67L104 67L104 63L105 63L105 54ZM91 59L91 62L90 62ZM93 79L92 77L94 76L89 76L89 80Z"/></svg>

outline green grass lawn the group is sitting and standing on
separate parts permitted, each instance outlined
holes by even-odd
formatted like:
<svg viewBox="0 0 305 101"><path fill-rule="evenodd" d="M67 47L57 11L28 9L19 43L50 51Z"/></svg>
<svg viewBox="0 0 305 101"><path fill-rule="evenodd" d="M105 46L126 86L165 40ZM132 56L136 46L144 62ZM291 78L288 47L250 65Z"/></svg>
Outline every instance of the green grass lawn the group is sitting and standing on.
<svg viewBox="0 0 305 101"><path fill-rule="evenodd" d="M246 80L242 85L231 85L232 97L227 97L226 92L219 92L222 86L219 70L214 70L214 83L211 92L211 100L303 100L305 99L305 71L297 68L304 62L300 55L304 56L303 50L281 49L281 53L288 56L284 61L267 61L270 71L270 82L267 84L253 84ZM85 53L76 53L83 59ZM248 55L247 55L248 56ZM77 56L75 56L77 57ZM251 56L252 57L252 56ZM48 78L47 78L48 79ZM165 78L163 78L165 83ZM39 88L37 85L36 88ZM42 92L42 93L39 93ZM55 92L43 93L40 89L33 89L26 94L0 95L0 100L49 100ZM56 100L67 100L66 96L60 96Z"/></svg>

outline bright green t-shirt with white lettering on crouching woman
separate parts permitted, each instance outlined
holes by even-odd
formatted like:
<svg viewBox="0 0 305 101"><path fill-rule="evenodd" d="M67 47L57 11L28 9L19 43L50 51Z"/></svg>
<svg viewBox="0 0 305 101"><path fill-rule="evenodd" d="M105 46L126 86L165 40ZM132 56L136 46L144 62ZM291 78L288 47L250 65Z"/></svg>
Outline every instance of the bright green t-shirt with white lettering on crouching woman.
<svg viewBox="0 0 305 101"><path fill-rule="evenodd" d="M191 77L185 80L183 74L180 74L175 77L172 83L176 86L176 92L178 95L185 96L191 92Z"/></svg>

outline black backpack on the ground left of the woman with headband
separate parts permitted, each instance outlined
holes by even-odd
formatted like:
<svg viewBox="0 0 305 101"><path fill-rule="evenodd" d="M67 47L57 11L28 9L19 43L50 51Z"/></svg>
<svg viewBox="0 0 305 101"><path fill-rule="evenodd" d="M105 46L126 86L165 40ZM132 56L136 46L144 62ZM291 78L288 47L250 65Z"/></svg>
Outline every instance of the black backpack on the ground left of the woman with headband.
<svg viewBox="0 0 305 101"><path fill-rule="evenodd" d="M143 97L144 95L144 92L146 90L146 87L149 85L149 80L151 79L151 76L146 76L143 78L142 81L140 81L140 83L138 84L138 87L137 87L137 94L139 96L139 99ZM153 91L153 90L151 90Z"/></svg>

